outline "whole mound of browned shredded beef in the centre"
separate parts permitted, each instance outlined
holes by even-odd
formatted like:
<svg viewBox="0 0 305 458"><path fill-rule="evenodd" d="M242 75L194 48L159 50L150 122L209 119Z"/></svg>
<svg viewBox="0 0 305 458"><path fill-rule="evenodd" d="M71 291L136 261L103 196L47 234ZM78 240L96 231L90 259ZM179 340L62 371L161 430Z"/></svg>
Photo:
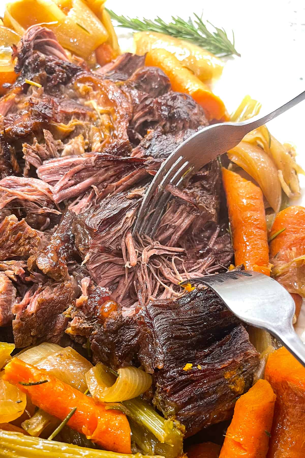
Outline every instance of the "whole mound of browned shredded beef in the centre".
<svg viewBox="0 0 305 458"><path fill-rule="evenodd" d="M187 435L229 418L258 354L215 294L180 286L233 256L219 163L167 186L154 239L132 233L152 176L208 125L202 107L144 56L90 71L47 27L14 52L19 76L0 99L0 326L15 316L16 347L69 336L94 361L143 365Z"/></svg>

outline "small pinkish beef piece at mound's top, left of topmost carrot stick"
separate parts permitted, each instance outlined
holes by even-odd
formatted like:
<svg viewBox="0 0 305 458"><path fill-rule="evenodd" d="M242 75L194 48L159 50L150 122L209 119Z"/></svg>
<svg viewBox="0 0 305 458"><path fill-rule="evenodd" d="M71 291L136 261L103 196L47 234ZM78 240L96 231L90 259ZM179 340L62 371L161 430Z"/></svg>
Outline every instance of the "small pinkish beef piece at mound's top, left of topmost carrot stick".
<svg viewBox="0 0 305 458"><path fill-rule="evenodd" d="M109 64L103 65L97 70L99 75L111 81L126 81L141 67L144 67L145 56L125 53L119 55Z"/></svg>

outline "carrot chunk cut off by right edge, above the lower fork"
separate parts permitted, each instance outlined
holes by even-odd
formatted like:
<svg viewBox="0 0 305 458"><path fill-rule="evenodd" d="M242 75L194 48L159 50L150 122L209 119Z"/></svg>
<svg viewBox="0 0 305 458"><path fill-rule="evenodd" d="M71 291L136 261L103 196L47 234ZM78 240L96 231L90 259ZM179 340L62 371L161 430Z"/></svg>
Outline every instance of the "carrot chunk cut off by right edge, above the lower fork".
<svg viewBox="0 0 305 458"><path fill-rule="evenodd" d="M271 274L289 293L305 297L305 208L291 206L279 212L269 236L281 230L269 244ZM299 304L300 300L296 311Z"/></svg>

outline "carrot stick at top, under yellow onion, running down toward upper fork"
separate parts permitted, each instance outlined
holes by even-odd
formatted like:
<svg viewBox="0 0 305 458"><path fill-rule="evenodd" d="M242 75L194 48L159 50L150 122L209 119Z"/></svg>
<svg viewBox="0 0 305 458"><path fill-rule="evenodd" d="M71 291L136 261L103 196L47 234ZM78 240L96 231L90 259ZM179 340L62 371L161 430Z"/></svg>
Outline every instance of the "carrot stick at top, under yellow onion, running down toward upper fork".
<svg viewBox="0 0 305 458"><path fill-rule="evenodd" d="M191 95L203 107L209 120L229 119L221 98L213 94L209 86L201 82L169 51L151 49L146 55L145 65L161 68L169 77L173 90Z"/></svg>

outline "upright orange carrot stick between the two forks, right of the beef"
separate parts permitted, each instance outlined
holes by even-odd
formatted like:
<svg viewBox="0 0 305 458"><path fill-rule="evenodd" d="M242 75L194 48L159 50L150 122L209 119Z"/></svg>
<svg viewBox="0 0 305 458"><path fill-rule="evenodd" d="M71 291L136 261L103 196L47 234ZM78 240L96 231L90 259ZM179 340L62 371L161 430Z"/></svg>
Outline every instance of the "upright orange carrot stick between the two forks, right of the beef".
<svg viewBox="0 0 305 458"><path fill-rule="evenodd" d="M233 239L235 265L270 275L267 225L261 189L222 169Z"/></svg>

